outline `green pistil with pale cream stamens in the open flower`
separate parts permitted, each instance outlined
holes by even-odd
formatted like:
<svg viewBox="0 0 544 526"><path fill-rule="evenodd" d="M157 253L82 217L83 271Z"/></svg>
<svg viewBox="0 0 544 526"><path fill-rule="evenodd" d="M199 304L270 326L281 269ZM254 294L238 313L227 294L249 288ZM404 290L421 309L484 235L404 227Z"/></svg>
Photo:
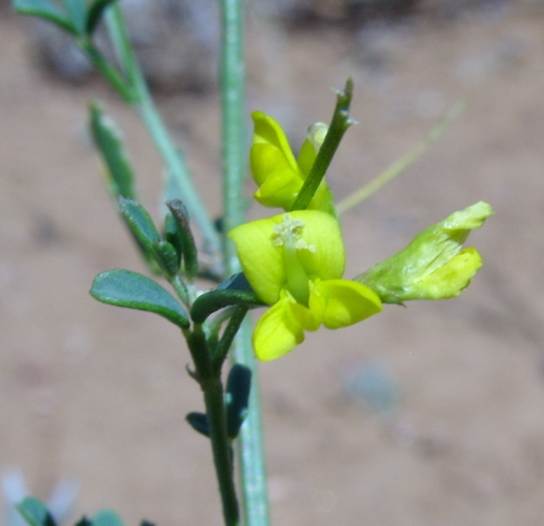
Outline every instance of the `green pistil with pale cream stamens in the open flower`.
<svg viewBox="0 0 544 526"><path fill-rule="evenodd" d="M313 245L308 245L302 237L306 226L304 221L294 219L291 214L283 214L283 222L276 225L272 232L272 244L283 247L283 260L287 274L287 290L298 303L308 306L310 298L309 277L305 271L298 251L308 250L315 252Z"/></svg>

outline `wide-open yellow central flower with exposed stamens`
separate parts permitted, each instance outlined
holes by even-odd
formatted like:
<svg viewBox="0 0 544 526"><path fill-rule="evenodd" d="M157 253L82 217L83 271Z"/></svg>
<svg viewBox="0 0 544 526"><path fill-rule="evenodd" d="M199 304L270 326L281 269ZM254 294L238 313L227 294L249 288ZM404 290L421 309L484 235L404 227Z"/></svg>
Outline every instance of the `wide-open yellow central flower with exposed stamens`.
<svg viewBox="0 0 544 526"><path fill-rule="evenodd" d="M259 360L274 360L304 340L304 331L338 329L381 310L367 286L341 279L346 257L336 218L298 210L240 225L229 233L244 274L271 305L253 333Z"/></svg>

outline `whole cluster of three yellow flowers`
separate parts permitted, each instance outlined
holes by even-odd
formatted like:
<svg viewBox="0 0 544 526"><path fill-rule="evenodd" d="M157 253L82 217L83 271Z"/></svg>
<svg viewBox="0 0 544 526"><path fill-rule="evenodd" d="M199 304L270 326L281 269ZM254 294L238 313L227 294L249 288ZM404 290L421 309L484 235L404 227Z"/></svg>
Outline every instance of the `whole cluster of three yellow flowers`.
<svg viewBox="0 0 544 526"><path fill-rule="evenodd" d="M343 279L346 264L341 229L324 180L307 210L291 211L327 133L318 123L295 158L274 119L252 114L250 151L255 199L285 213L251 221L229 232L244 275L270 305L253 334L255 354L274 360L300 344L305 331L321 325L347 327L382 310L382 303L457 296L482 265L474 248L462 249L471 229L493 214L480 201L455 212L416 236L398 254L354 279Z"/></svg>

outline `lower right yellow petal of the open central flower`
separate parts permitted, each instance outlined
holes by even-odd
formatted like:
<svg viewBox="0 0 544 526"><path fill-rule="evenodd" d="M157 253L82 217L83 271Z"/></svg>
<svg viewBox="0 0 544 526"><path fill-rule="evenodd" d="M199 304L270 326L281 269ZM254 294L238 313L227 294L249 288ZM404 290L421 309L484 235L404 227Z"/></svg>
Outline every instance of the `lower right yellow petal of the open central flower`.
<svg viewBox="0 0 544 526"><path fill-rule="evenodd" d="M316 281L311 287L310 310L328 329L348 327L382 310L376 292L348 279Z"/></svg>

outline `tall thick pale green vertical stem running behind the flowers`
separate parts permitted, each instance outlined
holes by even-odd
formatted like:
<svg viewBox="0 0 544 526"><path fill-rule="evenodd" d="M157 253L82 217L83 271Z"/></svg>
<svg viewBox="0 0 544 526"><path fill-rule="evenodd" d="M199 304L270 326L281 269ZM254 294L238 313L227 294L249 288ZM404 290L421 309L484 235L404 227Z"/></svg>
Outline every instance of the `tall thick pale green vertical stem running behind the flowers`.
<svg viewBox="0 0 544 526"><path fill-rule="evenodd" d="M225 231L244 222L243 185L246 177L246 110L242 0L221 0L222 56L222 170ZM240 271L233 244L224 248L226 276ZM246 526L270 524L261 424L259 378L251 345L251 327L242 323L231 349L233 362L252 371L248 415L238 437L239 471L242 479Z"/></svg>

